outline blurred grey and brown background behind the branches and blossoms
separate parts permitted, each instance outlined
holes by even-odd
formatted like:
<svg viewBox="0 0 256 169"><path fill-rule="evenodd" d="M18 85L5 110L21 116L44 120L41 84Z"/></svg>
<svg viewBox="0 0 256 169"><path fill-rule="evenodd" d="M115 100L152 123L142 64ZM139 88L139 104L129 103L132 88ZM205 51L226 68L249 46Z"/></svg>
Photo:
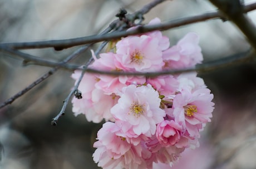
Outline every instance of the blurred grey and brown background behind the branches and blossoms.
<svg viewBox="0 0 256 169"><path fill-rule="evenodd" d="M29 42L84 37L99 33L121 7L129 13L150 1L140 0L0 0L0 40ZM245 4L256 1L245 1ZM144 23L193 16L214 10L205 0L174 0L156 6ZM248 13L253 22L256 13ZM188 32L200 36L204 62L247 51L250 46L230 22L214 19L163 32L174 45ZM92 47L96 49L98 44ZM77 47L56 51L22 50L61 61ZM83 64L89 51L73 61ZM50 68L22 66L22 59L0 53L0 102L24 89ZM202 133L199 148L186 151L173 168L256 168L256 67L254 62L200 73L214 94L213 119ZM73 116L71 104L57 126L51 119L61 110L74 81L72 72L59 70L34 89L0 109L0 168L97 168L92 160L101 124ZM166 166L163 166L163 168Z"/></svg>

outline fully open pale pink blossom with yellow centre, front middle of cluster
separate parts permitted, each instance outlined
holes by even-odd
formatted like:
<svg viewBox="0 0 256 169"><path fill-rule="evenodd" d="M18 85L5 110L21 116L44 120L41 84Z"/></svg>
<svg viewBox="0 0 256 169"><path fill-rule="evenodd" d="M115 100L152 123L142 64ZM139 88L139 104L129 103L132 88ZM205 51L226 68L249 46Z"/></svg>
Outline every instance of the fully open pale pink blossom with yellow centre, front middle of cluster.
<svg viewBox="0 0 256 169"><path fill-rule="evenodd" d="M159 107L160 101L151 85L129 85L122 89L111 113L122 132L150 137L155 134L156 124L164 120L165 112Z"/></svg>

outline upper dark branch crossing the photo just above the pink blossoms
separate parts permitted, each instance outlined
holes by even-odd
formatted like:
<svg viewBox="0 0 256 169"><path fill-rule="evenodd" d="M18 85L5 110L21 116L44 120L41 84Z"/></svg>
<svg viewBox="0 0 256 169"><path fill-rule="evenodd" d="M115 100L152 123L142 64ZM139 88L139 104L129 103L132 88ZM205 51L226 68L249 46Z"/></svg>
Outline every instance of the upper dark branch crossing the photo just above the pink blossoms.
<svg viewBox="0 0 256 169"><path fill-rule="evenodd" d="M256 9L256 3L248 4L244 6L244 12L250 12ZM128 35L135 35L140 33L151 32L153 30L167 30L175 27L184 26L191 23L202 22L209 19L223 18L223 14L219 12L209 12L192 17L179 18L169 22L155 24L155 25L144 25L137 29L121 32L113 32L104 35L90 35L87 37L63 39L63 40L47 40L41 42L24 42L24 43L2 43L1 46L13 48L13 49L35 49L35 48L70 48L76 45L82 45L87 43L96 43L105 40L118 39L126 37Z"/></svg>

